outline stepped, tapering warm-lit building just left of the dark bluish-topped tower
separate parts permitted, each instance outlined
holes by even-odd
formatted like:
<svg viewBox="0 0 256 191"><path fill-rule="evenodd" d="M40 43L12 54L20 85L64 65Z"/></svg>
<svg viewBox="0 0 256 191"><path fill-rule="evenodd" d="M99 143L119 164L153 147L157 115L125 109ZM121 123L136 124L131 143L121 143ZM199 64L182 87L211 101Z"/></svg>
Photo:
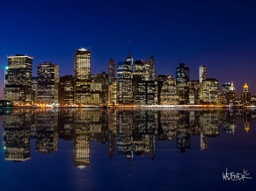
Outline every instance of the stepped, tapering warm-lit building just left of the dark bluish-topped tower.
<svg viewBox="0 0 256 191"><path fill-rule="evenodd" d="M167 75L163 81L163 85L160 93L161 105L178 105L179 94L176 88L176 81L172 78L172 75Z"/></svg>

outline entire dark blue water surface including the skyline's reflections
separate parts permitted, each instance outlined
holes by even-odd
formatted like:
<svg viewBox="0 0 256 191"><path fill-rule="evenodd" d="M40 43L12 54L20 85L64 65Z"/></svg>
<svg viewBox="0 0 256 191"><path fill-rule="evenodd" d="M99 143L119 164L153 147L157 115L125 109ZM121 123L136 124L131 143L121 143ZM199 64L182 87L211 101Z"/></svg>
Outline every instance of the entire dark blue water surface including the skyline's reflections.
<svg viewBox="0 0 256 191"><path fill-rule="evenodd" d="M254 190L255 125L256 110L0 109L0 189Z"/></svg>

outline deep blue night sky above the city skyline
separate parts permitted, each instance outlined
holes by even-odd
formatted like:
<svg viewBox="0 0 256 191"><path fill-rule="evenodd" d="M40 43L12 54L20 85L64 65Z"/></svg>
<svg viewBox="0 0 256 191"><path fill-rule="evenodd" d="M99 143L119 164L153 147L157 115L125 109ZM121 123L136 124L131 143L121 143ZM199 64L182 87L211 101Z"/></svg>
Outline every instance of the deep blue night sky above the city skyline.
<svg viewBox="0 0 256 191"><path fill-rule="evenodd" d="M1 1L0 99L7 55L33 56L33 75L44 61L73 74L77 48L91 50L91 73L107 71L110 57L125 60L128 40L134 60L153 54L157 74L172 74L184 62L190 80L200 65L208 77L234 81L240 94L245 82L256 95L255 1ZM238 95L240 97L240 95Z"/></svg>

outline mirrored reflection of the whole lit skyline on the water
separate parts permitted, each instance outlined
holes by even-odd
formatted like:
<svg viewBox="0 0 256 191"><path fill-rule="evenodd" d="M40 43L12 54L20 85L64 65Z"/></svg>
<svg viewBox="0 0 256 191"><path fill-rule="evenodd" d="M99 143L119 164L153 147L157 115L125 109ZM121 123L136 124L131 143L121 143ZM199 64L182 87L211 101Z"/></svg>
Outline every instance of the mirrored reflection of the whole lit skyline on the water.
<svg viewBox="0 0 256 191"><path fill-rule="evenodd" d="M130 162L135 156L156 157L157 141L175 140L187 152L191 136L198 136L201 151L208 150L208 137L223 131L234 134L241 117L249 132L255 110L91 110L91 109L2 109L5 160L30 159L30 139L36 151L57 151L58 137L73 139L74 164L90 165L90 143L108 145L110 159L122 154ZM117 152L115 152L115 148Z"/></svg>

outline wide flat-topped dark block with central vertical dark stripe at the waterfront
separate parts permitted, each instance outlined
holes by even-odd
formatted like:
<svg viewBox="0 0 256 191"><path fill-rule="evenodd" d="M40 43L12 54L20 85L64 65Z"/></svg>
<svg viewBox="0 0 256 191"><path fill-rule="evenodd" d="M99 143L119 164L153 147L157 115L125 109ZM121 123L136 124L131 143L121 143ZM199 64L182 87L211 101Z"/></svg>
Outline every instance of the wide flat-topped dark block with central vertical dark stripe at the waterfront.
<svg viewBox="0 0 256 191"><path fill-rule="evenodd" d="M158 81L135 81L134 103L137 105L156 105Z"/></svg>

